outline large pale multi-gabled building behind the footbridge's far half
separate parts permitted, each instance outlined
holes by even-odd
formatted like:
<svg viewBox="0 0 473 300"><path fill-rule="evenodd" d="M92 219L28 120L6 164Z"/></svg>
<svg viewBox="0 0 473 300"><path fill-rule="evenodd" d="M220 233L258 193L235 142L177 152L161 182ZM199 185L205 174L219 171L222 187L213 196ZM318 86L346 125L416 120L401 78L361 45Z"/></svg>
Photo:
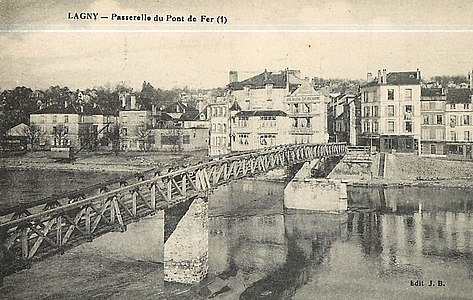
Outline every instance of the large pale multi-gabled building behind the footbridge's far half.
<svg viewBox="0 0 473 300"><path fill-rule="evenodd" d="M324 95L299 71L265 70L238 81L230 71L227 95L209 105L210 155L289 143L327 142Z"/></svg>

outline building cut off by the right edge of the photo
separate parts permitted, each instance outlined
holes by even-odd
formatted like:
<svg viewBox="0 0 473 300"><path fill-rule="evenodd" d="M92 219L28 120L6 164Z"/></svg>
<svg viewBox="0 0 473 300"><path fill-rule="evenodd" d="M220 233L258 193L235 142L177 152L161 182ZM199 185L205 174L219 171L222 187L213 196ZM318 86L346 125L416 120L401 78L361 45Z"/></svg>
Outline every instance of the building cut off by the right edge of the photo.
<svg viewBox="0 0 473 300"><path fill-rule="evenodd" d="M473 95L470 89L448 89L446 120L446 154L451 158L472 158Z"/></svg>

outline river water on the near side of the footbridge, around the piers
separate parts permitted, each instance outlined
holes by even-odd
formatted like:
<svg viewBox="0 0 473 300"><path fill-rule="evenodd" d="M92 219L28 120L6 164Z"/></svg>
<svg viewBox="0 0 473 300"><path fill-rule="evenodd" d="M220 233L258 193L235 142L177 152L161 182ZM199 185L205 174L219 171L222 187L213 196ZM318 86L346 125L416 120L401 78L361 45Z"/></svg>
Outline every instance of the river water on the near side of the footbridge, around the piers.
<svg viewBox="0 0 473 300"><path fill-rule="evenodd" d="M162 219L155 216L5 278L0 295L472 299L471 190L351 188L350 211L335 215L284 210L284 187L242 180L211 195L209 276L200 285L163 283Z"/></svg>

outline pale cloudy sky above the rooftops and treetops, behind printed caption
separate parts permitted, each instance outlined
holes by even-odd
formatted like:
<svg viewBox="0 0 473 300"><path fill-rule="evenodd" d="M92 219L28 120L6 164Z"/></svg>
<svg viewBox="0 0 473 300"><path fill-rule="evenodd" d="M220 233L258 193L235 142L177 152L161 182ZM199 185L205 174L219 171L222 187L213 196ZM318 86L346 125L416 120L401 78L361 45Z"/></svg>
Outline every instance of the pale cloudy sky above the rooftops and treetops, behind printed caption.
<svg viewBox="0 0 473 300"><path fill-rule="evenodd" d="M414 3L412 3L414 2ZM71 20L98 12L109 19ZM225 16L226 24L112 21L112 13ZM419 68L424 78L473 69L469 1L0 1L0 90L214 88L236 70L366 78ZM200 19L200 18L199 18Z"/></svg>

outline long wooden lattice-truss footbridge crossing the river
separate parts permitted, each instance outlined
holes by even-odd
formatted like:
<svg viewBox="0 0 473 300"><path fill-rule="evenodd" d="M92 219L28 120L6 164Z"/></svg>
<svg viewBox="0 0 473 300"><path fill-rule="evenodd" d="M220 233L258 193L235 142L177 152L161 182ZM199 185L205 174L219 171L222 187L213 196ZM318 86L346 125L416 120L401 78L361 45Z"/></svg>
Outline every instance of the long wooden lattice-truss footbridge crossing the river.
<svg viewBox="0 0 473 300"><path fill-rule="evenodd" d="M345 152L343 143L276 146L85 187L0 212L0 246L23 261L62 253L230 181Z"/></svg>

